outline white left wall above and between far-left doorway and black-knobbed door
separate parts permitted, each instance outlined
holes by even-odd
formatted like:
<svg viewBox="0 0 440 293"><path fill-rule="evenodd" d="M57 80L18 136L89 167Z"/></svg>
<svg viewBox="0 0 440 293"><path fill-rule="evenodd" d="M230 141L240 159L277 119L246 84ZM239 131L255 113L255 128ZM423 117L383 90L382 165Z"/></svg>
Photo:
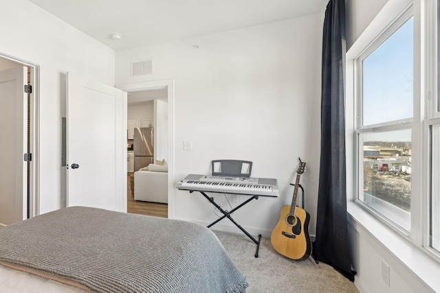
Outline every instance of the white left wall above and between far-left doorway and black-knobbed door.
<svg viewBox="0 0 440 293"><path fill-rule="evenodd" d="M0 2L0 53L40 65L40 212L63 206L65 73L115 84L114 51L26 0Z"/></svg>

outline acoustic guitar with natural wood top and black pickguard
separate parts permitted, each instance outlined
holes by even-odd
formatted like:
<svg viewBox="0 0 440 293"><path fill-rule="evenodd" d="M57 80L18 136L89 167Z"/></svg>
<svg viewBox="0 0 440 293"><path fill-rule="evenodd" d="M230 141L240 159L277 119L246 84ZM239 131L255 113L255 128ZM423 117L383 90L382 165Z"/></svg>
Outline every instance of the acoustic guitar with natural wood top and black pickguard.
<svg viewBox="0 0 440 293"><path fill-rule="evenodd" d="M309 237L310 215L304 209L296 207L296 198L298 196L298 187L300 176L305 172L305 163L300 161L296 170L296 183L292 204L281 208L280 220L272 235L270 241L275 250L289 259L303 260L311 254L311 240Z"/></svg>

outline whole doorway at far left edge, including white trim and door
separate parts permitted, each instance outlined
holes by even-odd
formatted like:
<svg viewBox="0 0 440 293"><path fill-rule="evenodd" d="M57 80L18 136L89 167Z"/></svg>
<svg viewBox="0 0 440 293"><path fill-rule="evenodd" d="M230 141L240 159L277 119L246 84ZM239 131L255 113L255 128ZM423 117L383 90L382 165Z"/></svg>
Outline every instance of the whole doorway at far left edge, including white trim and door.
<svg viewBox="0 0 440 293"><path fill-rule="evenodd" d="M0 54L0 225L38 214L36 121L39 66ZM12 78L14 76L14 78Z"/></svg>

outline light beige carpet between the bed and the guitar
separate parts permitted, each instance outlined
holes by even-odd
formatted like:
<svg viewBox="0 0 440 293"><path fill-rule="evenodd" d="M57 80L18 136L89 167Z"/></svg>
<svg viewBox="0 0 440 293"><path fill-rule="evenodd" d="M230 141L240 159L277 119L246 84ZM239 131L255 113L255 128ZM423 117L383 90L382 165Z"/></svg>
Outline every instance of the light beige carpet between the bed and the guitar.
<svg viewBox="0 0 440 293"><path fill-rule="evenodd" d="M295 261L278 254L268 237L261 238L259 257L256 258L256 244L245 234L213 232L246 276L249 283L247 293L359 292L354 283L325 263L316 264L311 257Z"/></svg>

